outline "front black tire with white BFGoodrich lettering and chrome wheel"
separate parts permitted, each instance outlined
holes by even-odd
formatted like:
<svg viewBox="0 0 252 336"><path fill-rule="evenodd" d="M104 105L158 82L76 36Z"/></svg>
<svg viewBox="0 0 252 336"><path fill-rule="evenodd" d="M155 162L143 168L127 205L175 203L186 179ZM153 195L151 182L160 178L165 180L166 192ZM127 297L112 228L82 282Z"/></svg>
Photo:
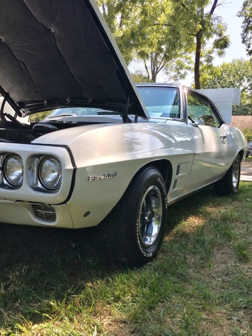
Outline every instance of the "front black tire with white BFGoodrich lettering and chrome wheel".
<svg viewBox="0 0 252 336"><path fill-rule="evenodd" d="M166 196L164 180L155 167L147 167L135 176L99 225L110 259L142 266L157 256L166 229Z"/></svg>

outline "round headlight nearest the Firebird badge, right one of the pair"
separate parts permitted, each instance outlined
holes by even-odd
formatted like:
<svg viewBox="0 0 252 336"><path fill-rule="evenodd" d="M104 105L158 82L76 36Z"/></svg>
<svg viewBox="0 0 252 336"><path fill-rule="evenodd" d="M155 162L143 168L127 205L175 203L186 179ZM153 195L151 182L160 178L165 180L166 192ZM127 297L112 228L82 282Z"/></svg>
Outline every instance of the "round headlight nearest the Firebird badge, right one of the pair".
<svg viewBox="0 0 252 336"><path fill-rule="evenodd" d="M61 163L53 156L44 157L39 163L39 180L46 189L55 190L61 184Z"/></svg>

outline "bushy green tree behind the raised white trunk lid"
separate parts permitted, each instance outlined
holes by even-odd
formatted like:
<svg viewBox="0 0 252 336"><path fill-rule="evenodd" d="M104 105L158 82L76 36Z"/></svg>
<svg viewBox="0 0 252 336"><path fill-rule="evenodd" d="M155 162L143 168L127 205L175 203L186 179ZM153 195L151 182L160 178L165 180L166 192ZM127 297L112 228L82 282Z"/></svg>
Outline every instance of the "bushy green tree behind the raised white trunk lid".
<svg viewBox="0 0 252 336"><path fill-rule="evenodd" d="M241 90L240 106L234 106L234 115L252 115L252 59L232 60L213 67L202 78L204 89L234 87Z"/></svg>

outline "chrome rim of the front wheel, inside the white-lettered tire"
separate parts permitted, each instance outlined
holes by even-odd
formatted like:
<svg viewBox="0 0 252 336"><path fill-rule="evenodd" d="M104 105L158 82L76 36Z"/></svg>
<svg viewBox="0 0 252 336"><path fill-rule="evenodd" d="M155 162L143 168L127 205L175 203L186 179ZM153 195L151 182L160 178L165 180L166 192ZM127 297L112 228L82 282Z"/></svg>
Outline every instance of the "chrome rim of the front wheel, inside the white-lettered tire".
<svg viewBox="0 0 252 336"><path fill-rule="evenodd" d="M156 240L162 221L162 196L156 186L145 192L138 217L138 232L141 244L150 247Z"/></svg>

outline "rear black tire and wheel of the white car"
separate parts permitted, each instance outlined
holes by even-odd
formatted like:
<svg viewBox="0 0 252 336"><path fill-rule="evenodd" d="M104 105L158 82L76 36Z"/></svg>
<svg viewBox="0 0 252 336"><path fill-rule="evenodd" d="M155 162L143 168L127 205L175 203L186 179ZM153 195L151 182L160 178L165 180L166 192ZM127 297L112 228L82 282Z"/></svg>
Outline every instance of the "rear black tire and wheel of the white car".
<svg viewBox="0 0 252 336"><path fill-rule="evenodd" d="M214 185L216 193L220 196L236 194L240 183L240 157L236 156L227 173Z"/></svg>

